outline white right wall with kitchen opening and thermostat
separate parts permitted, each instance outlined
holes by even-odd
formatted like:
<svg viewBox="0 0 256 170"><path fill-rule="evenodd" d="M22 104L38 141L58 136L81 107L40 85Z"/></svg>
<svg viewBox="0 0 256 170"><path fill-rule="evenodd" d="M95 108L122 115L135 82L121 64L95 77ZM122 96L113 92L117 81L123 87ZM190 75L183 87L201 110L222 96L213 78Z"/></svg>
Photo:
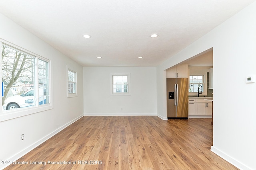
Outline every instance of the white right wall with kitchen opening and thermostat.
<svg viewBox="0 0 256 170"><path fill-rule="evenodd" d="M157 67L157 113L166 117L164 70L213 47L212 151L240 169L256 169L256 2Z"/></svg>

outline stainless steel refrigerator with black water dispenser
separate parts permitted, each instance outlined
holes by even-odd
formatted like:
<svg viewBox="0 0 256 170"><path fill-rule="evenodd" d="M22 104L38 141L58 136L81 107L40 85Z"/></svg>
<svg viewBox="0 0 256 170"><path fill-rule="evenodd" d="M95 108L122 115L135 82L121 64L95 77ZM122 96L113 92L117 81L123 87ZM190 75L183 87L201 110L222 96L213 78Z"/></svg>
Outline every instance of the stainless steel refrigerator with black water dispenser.
<svg viewBox="0 0 256 170"><path fill-rule="evenodd" d="M167 117L188 119L188 78L167 78Z"/></svg>

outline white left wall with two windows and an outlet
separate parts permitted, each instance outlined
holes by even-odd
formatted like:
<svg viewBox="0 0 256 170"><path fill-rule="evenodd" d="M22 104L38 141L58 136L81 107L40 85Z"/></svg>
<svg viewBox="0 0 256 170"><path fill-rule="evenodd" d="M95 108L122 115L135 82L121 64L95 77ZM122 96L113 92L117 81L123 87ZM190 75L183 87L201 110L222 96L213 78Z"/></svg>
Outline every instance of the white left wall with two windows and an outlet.
<svg viewBox="0 0 256 170"><path fill-rule="evenodd" d="M1 121L0 160L16 160L83 115L82 66L0 14L0 39L52 61L53 109ZM66 65L76 68L78 97L66 98ZM3 119L2 119L3 120ZM24 133L24 140L21 135ZM2 169L6 164L0 164Z"/></svg>

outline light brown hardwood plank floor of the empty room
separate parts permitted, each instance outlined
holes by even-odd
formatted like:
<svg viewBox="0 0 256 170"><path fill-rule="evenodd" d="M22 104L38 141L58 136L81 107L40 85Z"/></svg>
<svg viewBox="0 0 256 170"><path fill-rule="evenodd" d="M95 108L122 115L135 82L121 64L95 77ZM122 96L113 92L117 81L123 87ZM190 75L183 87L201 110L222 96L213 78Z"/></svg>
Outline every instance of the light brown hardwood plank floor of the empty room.
<svg viewBox="0 0 256 170"><path fill-rule="evenodd" d="M6 170L237 169L211 152L211 146L211 119L84 116L17 160L28 164L11 164Z"/></svg>

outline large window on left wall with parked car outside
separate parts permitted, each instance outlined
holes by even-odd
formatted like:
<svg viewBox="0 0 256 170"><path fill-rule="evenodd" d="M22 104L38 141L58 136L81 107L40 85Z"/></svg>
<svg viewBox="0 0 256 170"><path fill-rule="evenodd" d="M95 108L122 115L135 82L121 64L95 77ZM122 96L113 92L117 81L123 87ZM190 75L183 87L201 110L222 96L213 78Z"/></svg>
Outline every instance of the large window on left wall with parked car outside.
<svg viewBox="0 0 256 170"><path fill-rule="evenodd" d="M2 44L4 110L50 103L49 61Z"/></svg>

